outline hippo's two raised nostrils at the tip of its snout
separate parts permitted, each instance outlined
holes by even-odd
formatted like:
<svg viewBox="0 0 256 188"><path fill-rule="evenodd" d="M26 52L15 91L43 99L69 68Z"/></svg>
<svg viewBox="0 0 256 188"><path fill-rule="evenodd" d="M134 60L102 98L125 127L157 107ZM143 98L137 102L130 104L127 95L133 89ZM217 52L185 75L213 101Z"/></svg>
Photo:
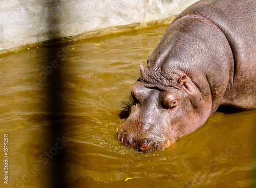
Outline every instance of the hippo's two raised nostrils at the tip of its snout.
<svg viewBox="0 0 256 188"><path fill-rule="evenodd" d="M157 148L157 143L152 141L151 139L142 139L137 142L129 136L128 132L123 132L120 136L120 141L122 144L127 145L131 148L136 148L142 152L153 151Z"/></svg>

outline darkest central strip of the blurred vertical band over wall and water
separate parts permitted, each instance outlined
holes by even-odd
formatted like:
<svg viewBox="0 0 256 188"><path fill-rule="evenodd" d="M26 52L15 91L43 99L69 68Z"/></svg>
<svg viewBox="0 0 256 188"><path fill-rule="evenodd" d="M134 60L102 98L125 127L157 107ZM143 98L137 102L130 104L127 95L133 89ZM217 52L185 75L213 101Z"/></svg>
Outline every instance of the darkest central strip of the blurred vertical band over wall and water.
<svg viewBox="0 0 256 188"><path fill-rule="evenodd" d="M44 89L42 89L41 92L44 92L47 96L44 103L48 106L47 113L49 114L49 126L48 135L45 135L45 137L48 138L47 147L49 148L53 148L53 146L56 147L58 140L64 140L63 129L65 127L65 123L63 121L63 103L65 101L63 101L63 98L60 95L63 90L61 75L62 70L64 69L64 64L59 59L61 56L62 44L60 43L59 30L56 28L56 25L60 23L60 20L53 16L58 14L58 4L59 2L52 3L52 7L50 7L51 12L49 13L50 15L48 15L48 38L54 39L55 44L47 46L48 56L44 61L45 75L43 75L44 73L40 75L46 77L46 79L43 80L45 82L45 86L42 87ZM38 84L42 84L41 80L39 80ZM52 150L52 152L54 152L54 150ZM61 173L65 173L64 169L62 168L64 156L63 150L58 150L56 156L54 156L52 159L50 158L51 161L47 166L47 170L50 174L53 174L53 176L50 177L51 179L49 182L51 187L58 187L59 183L61 182Z"/></svg>

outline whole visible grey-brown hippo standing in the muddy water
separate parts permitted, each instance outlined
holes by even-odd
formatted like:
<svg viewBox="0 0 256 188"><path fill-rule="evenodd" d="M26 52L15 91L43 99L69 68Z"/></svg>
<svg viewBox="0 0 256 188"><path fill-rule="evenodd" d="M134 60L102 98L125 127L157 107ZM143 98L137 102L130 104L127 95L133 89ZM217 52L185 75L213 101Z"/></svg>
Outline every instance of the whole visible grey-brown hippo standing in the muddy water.
<svg viewBox="0 0 256 188"><path fill-rule="evenodd" d="M256 107L256 1L200 1L184 10L140 65L121 143L168 147L219 106Z"/></svg>

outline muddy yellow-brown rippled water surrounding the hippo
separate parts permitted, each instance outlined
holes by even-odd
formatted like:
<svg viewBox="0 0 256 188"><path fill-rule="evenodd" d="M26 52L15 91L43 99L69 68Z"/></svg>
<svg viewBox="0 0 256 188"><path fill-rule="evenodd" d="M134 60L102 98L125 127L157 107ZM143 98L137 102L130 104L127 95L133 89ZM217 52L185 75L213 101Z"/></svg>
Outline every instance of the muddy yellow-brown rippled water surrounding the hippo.
<svg viewBox="0 0 256 188"><path fill-rule="evenodd" d="M256 110L217 112L163 150L121 145L118 114L167 25L0 57L2 187L255 187ZM4 134L8 153L4 153ZM128 179L127 179L128 178Z"/></svg>

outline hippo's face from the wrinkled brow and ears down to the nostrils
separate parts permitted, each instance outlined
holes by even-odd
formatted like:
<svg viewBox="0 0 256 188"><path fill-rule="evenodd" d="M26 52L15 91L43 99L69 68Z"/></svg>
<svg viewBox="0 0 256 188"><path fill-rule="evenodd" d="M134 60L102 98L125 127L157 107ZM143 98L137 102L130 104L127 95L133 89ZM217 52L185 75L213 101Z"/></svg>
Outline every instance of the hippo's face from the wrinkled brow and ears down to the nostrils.
<svg viewBox="0 0 256 188"><path fill-rule="evenodd" d="M121 143L143 152L168 147L200 127L210 114L210 105L205 105L209 97L189 76L156 67L140 64L141 77L131 89L130 115L117 131Z"/></svg>

